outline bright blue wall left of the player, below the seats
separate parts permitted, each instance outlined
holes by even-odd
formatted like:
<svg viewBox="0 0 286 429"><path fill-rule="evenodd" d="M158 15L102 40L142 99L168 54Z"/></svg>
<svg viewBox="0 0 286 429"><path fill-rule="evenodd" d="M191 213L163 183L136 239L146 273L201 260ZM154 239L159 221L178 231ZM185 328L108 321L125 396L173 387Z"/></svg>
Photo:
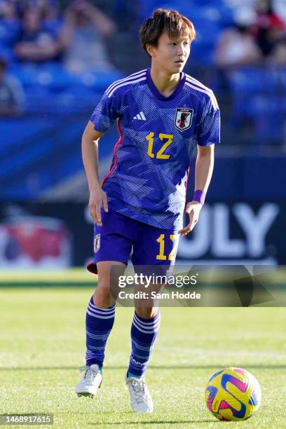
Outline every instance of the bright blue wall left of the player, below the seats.
<svg viewBox="0 0 286 429"><path fill-rule="evenodd" d="M94 100L95 104L97 100ZM1 121L6 135L0 147L0 200L34 200L83 169L81 135L88 116L40 114ZM102 139L100 156L110 157L116 127Z"/></svg>

